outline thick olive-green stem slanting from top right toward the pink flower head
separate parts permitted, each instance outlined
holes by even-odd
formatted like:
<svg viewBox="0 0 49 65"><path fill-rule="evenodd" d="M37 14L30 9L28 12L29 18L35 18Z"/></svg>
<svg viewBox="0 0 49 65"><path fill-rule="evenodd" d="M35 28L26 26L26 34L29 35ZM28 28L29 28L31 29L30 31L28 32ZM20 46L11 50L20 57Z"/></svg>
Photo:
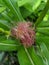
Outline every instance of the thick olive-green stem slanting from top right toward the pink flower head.
<svg viewBox="0 0 49 65"><path fill-rule="evenodd" d="M49 9L49 0L47 1L46 6L45 6L45 8L43 9L43 11L41 12L39 18L37 19L37 21L36 21L36 23L35 23L35 26L38 26L39 23L43 20L43 18L44 18L44 16L46 15L48 9Z"/></svg>

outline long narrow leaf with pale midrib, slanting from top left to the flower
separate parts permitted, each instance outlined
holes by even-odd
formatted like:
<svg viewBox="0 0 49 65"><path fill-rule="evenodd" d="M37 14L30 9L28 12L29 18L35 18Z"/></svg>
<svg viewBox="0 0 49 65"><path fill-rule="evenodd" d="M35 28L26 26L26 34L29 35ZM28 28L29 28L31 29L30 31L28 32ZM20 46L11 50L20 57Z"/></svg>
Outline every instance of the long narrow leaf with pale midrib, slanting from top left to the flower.
<svg viewBox="0 0 49 65"><path fill-rule="evenodd" d="M19 21L23 21L17 2L15 2L14 0L3 0L3 2L11 10L11 12L14 13L14 15L16 16L16 18L18 18Z"/></svg>

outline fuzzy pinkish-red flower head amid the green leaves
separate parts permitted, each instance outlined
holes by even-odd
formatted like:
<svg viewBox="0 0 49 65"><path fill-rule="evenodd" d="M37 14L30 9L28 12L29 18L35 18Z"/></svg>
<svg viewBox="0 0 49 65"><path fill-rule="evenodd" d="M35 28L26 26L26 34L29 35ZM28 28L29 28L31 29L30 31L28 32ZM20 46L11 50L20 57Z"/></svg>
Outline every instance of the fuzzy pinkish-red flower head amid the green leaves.
<svg viewBox="0 0 49 65"><path fill-rule="evenodd" d="M11 32L13 36L21 40L25 47L30 47L34 44L35 31L31 22L19 22Z"/></svg>

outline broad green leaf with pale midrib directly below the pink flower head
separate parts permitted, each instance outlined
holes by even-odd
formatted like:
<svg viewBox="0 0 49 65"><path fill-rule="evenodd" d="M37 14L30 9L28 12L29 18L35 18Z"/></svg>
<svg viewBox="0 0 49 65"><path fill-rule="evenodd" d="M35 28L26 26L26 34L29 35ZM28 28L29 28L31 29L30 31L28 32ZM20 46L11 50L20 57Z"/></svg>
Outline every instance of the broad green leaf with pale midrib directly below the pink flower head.
<svg viewBox="0 0 49 65"><path fill-rule="evenodd" d="M33 47L29 49L21 48L17 55L18 55L20 65L25 65L25 64L26 65L38 65L38 64L44 65L41 57L39 57L36 54Z"/></svg>

